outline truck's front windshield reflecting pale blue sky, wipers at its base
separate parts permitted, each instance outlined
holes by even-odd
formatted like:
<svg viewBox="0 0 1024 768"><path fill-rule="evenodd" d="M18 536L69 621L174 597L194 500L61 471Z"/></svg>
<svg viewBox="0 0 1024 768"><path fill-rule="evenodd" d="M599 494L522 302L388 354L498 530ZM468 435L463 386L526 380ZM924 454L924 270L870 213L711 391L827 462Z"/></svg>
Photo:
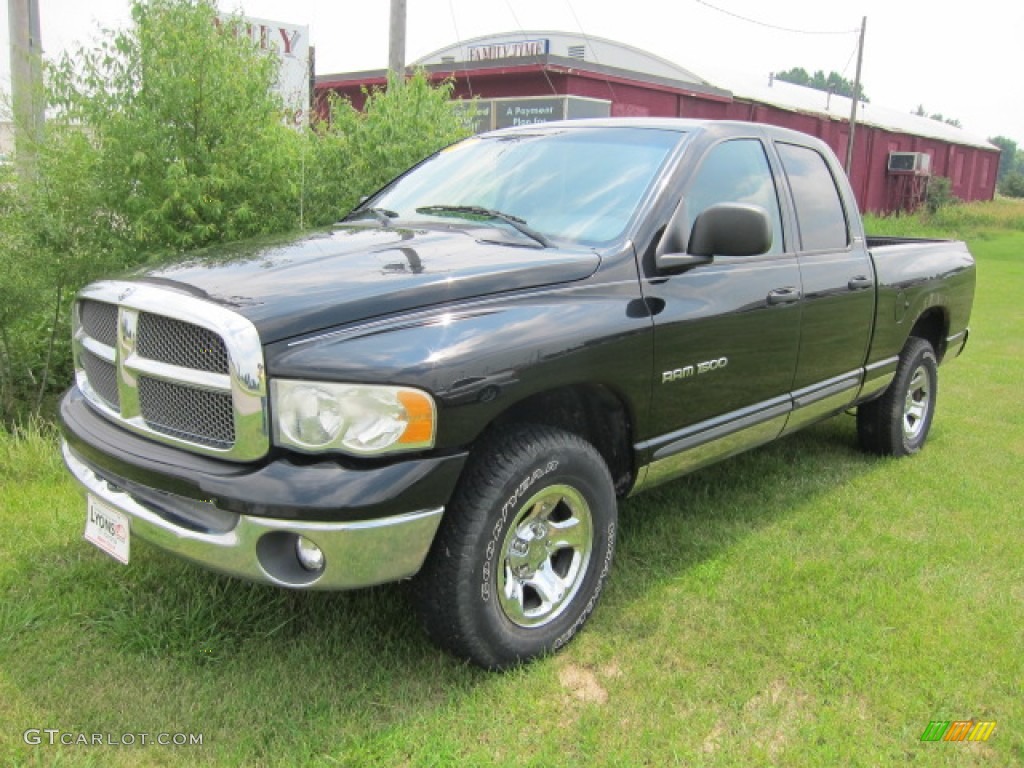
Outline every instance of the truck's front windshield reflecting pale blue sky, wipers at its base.
<svg viewBox="0 0 1024 768"><path fill-rule="evenodd" d="M486 221L543 240L599 245L620 237L675 131L580 128L469 138L395 181L366 207L396 221ZM474 215L475 208L496 215ZM458 209L464 209L462 211ZM508 221L513 219L513 221Z"/></svg>

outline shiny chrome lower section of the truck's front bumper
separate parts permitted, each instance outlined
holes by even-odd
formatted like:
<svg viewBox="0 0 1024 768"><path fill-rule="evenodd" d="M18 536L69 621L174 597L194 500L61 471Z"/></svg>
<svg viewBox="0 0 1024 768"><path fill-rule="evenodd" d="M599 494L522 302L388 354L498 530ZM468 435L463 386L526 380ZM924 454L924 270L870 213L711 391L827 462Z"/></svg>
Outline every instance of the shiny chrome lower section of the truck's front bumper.
<svg viewBox="0 0 1024 768"><path fill-rule="evenodd" d="M212 570L279 587L344 590L411 577L423 565L443 512L436 508L356 522L302 522L212 509L212 517L227 520L227 526L191 527L99 477L67 442L62 453L68 469L87 493L128 515L133 538ZM211 507L167 498L181 505ZM312 572L299 563L295 542L300 536L323 551L322 570Z"/></svg>

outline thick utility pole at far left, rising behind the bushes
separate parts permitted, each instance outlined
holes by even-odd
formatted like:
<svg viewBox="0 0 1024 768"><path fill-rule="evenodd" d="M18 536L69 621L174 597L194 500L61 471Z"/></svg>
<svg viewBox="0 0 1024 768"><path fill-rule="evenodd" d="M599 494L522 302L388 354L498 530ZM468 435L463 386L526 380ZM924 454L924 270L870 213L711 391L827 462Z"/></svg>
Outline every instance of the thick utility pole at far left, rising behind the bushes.
<svg viewBox="0 0 1024 768"><path fill-rule="evenodd" d="M10 35L10 86L14 108L14 146L23 175L35 167L43 137L43 47L39 0L7 0Z"/></svg>

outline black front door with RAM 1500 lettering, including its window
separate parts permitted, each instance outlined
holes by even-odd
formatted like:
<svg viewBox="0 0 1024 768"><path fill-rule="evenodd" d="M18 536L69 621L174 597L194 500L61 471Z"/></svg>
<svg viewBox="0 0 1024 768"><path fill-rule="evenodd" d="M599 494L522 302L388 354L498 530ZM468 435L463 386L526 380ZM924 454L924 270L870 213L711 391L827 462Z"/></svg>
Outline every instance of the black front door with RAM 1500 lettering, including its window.
<svg viewBox="0 0 1024 768"><path fill-rule="evenodd" d="M717 203L752 203L772 223L771 249L715 256L675 274L648 274L654 316L651 423L654 474L688 471L773 439L790 411L800 348L801 278L786 249L775 175L760 138L722 141L682 190L687 230ZM667 478L666 478L667 479Z"/></svg>

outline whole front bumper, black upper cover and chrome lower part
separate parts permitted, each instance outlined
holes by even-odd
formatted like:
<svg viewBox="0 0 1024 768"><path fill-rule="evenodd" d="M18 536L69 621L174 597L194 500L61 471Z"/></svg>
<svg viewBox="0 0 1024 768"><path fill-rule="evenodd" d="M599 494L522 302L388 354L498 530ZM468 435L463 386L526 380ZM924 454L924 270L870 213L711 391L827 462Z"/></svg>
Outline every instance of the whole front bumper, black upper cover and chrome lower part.
<svg viewBox="0 0 1024 768"><path fill-rule="evenodd" d="M86 493L128 516L133 538L212 570L298 589L416 573L466 460L222 462L120 429L74 387L60 420L68 468ZM300 564L299 537L324 553L322 569Z"/></svg>

